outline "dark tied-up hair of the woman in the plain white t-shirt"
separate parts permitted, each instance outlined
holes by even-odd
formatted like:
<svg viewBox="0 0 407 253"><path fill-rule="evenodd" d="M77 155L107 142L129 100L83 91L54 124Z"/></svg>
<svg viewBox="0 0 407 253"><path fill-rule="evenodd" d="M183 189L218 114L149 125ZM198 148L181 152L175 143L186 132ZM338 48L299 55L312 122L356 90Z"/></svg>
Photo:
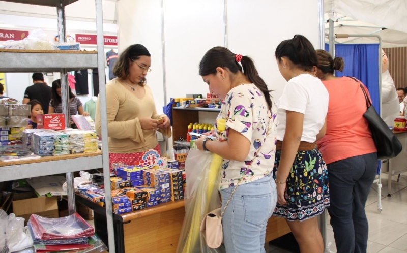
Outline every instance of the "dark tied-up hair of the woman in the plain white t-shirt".
<svg viewBox="0 0 407 253"><path fill-rule="evenodd" d="M282 41L276 48L275 57L279 62L281 57L287 57L295 66L304 71L311 71L318 62L311 42L298 34L293 39Z"/></svg>

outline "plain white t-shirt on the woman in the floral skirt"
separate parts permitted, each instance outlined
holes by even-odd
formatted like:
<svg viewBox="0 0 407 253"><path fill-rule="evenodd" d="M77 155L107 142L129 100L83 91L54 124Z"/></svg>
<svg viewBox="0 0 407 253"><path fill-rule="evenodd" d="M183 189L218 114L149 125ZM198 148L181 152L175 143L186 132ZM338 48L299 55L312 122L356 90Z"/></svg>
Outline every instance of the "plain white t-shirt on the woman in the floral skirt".
<svg viewBox="0 0 407 253"><path fill-rule="evenodd" d="M304 114L301 141L315 142L316 135L324 126L328 101L328 90L317 77L301 74L290 79L277 102L277 140L284 139L286 111L294 111Z"/></svg>

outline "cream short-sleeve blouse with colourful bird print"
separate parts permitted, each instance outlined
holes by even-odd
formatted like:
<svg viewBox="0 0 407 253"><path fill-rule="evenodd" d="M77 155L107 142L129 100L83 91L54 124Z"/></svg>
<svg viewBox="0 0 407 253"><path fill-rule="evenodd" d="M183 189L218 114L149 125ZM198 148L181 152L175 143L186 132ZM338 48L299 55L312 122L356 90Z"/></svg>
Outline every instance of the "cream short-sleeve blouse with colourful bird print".
<svg viewBox="0 0 407 253"><path fill-rule="evenodd" d="M249 183L273 173L276 153L276 109L273 102L270 131L265 142L269 116L263 92L254 84L241 84L227 93L217 119L226 119L226 139L231 128L250 141L250 150L244 162L223 160L219 189L237 184L240 173L246 170L259 146L263 146L260 155L253 161L240 184Z"/></svg>

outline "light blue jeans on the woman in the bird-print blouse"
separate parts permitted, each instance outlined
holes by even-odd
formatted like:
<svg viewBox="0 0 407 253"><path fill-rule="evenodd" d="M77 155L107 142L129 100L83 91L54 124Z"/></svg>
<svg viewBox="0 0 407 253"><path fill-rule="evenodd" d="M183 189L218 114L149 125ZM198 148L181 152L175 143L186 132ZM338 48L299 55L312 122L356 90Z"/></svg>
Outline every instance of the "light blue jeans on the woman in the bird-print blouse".
<svg viewBox="0 0 407 253"><path fill-rule="evenodd" d="M220 191L222 208L235 187ZM265 252L266 226L276 202L276 183L271 174L239 185L222 218L226 252Z"/></svg>

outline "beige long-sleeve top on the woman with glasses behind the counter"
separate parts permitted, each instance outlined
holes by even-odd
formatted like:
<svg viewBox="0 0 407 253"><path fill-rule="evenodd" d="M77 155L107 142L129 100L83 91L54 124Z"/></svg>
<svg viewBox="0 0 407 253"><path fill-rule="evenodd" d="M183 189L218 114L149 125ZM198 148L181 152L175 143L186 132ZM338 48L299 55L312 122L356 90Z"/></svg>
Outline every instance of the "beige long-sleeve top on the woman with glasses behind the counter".
<svg viewBox="0 0 407 253"><path fill-rule="evenodd" d="M141 129L138 119L159 119L165 117L165 114L157 114L153 93L148 85L144 88L146 94L138 98L116 79L106 84L109 153L144 152L157 146L156 132ZM99 97L96 102L95 129L101 135ZM171 127L159 131L171 137Z"/></svg>

